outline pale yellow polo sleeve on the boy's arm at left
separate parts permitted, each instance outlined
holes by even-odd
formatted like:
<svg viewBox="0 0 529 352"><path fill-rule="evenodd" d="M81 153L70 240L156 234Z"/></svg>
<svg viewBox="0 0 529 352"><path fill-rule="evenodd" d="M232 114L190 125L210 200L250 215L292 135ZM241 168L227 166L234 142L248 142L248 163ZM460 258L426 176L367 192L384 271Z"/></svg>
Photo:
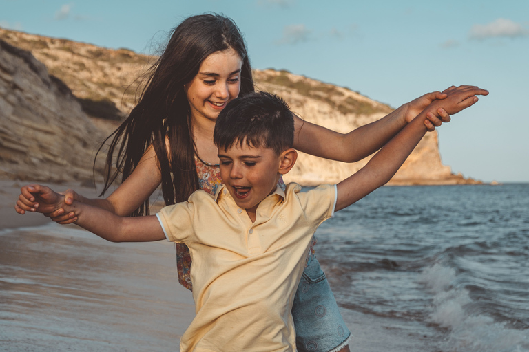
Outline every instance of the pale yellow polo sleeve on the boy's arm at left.
<svg viewBox="0 0 529 352"><path fill-rule="evenodd" d="M156 214L167 241L183 243L189 241L194 234L194 212L195 204L184 201L172 206L166 206Z"/></svg>

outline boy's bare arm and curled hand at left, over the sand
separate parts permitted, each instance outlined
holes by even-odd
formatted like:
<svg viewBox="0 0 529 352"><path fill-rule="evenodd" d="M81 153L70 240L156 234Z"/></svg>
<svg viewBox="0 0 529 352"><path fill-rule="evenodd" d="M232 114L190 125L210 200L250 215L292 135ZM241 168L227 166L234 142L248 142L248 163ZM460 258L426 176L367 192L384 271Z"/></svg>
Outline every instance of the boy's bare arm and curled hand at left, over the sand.
<svg viewBox="0 0 529 352"><path fill-rule="evenodd" d="M69 205L65 203L64 195L38 184L28 186L28 192L38 204L34 208L36 212L50 213L59 208L63 208L66 212L75 212L76 225L107 241L145 242L165 239L165 234L156 216L119 217L108 210L79 201L74 201Z"/></svg>

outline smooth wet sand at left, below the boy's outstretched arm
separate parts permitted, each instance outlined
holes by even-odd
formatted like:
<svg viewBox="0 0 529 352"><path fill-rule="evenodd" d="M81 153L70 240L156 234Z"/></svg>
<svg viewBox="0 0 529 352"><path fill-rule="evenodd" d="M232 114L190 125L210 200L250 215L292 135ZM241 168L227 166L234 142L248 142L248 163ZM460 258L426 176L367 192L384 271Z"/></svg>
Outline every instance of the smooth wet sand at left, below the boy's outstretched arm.
<svg viewBox="0 0 529 352"><path fill-rule="evenodd" d="M0 181L0 351L178 351L194 303L174 245L110 243L19 215L20 186Z"/></svg>

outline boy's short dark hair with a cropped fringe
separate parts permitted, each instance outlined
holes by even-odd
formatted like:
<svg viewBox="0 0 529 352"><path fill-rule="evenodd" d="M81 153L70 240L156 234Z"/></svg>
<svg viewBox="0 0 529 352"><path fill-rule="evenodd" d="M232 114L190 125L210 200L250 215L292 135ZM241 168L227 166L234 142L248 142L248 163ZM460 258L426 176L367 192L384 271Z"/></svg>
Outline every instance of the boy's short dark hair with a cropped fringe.
<svg viewBox="0 0 529 352"><path fill-rule="evenodd" d="M294 119L287 102L264 91L231 100L220 112L213 139L217 148L246 143L280 155L294 143Z"/></svg>

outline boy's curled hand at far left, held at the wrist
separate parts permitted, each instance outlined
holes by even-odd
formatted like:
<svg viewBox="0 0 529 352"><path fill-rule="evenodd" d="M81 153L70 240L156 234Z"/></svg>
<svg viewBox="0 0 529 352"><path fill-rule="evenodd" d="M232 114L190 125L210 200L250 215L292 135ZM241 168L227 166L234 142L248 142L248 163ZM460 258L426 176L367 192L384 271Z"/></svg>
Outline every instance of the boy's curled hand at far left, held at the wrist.
<svg viewBox="0 0 529 352"><path fill-rule="evenodd" d="M30 184L23 186L20 192L19 200L14 206L19 214L28 211L47 214L65 206L64 196L46 186Z"/></svg>

